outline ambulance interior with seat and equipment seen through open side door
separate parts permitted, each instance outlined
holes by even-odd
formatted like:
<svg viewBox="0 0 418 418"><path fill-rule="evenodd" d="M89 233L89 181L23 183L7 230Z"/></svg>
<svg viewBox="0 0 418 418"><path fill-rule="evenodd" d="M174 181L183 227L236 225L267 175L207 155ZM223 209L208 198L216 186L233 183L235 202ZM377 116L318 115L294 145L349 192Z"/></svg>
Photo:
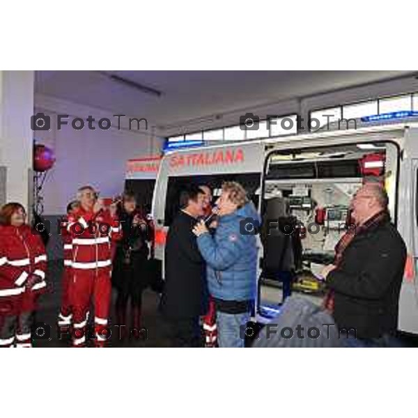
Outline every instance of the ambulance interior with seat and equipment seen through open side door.
<svg viewBox="0 0 418 418"><path fill-rule="evenodd" d="M265 165L261 201L263 258L258 313L269 317L288 293L320 304L320 271L352 220L350 201L364 180L385 184L396 217L398 148L392 142L277 151Z"/></svg>

